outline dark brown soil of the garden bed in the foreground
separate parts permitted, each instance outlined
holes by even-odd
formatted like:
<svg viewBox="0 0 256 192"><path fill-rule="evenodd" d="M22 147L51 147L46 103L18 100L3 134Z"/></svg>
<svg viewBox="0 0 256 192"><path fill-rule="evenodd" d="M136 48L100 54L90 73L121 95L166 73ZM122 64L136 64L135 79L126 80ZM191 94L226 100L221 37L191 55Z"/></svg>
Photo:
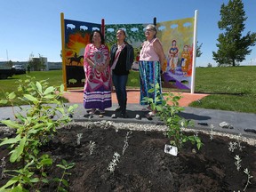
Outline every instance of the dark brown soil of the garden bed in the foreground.
<svg viewBox="0 0 256 192"><path fill-rule="evenodd" d="M80 145L77 145L77 133L83 133ZM1 134L3 138L4 134ZM231 152L228 143L237 142L236 139L214 135L210 140L209 134L200 132L198 136L204 143L200 150L186 143L178 156L172 156L164 153L164 145L170 142L163 132L130 132L128 129L116 129L113 125L103 129L102 124L72 124L58 129L56 136L42 150L52 156L54 164L60 164L62 159L76 163L68 170L72 174L66 176L68 191L237 192L243 191L247 183L245 168L253 176L246 191L256 191L256 147L242 142L242 151L236 148ZM128 147L122 155L125 138ZM93 150L90 150L90 141L95 142ZM115 152L120 157L114 173L111 173L108 164ZM0 158L7 157L7 154L7 149L2 147ZM242 159L239 172L236 170L236 155ZM12 165L7 161L6 169L10 168ZM61 173L62 170L53 165L49 177L60 178ZM0 180L0 186L5 182ZM41 191L56 191L57 185L52 181Z"/></svg>

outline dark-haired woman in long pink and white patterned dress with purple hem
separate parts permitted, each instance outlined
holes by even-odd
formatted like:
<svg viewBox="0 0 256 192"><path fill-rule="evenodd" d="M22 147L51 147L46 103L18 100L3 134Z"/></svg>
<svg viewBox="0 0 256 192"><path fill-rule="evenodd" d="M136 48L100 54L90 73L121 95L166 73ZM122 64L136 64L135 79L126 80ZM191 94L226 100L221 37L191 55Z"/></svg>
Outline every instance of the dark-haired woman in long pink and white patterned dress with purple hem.
<svg viewBox="0 0 256 192"><path fill-rule="evenodd" d="M92 32L91 42L84 51L84 108L92 108L91 114L96 109L103 114L112 107L109 51L99 30Z"/></svg>

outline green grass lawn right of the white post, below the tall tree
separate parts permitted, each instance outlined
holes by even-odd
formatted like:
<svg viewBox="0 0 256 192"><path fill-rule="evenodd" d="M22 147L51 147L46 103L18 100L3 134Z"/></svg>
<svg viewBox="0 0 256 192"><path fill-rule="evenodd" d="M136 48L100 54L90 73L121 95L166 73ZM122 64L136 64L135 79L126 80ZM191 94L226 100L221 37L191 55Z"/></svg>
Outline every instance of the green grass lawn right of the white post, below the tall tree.
<svg viewBox="0 0 256 192"><path fill-rule="evenodd" d="M196 68L195 92L211 95L189 106L256 113L255 72L256 66Z"/></svg>

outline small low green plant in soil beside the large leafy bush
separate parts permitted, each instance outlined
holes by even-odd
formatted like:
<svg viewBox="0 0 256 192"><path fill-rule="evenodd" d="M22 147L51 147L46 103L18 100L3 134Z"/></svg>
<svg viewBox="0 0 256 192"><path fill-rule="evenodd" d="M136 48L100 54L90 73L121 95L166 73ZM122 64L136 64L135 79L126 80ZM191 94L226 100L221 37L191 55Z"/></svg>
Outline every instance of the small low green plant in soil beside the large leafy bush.
<svg viewBox="0 0 256 192"><path fill-rule="evenodd" d="M65 189L64 187L62 187L63 185L68 188L68 180L65 180L64 177L66 175L71 175L70 172L67 172L67 170L72 169L75 166L75 163L67 163L67 161L65 161L64 159L62 159L62 164L57 164L56 166L60 167L63 172L61 175L61 178L55 178L55 181L59 181L59 185L57 188L57 191L61 191L61 192L66 192L68 191L67 189Z"/></svg>

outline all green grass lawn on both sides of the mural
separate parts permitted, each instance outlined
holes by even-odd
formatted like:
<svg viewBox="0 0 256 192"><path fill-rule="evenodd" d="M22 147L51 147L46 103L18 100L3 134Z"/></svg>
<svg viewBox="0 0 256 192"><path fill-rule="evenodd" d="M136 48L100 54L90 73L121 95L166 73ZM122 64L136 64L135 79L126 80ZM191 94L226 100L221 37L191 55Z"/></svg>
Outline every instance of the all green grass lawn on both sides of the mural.
<svg viewBox="0 0 256 192"><path fill-rule="evenodd" d="M255 72L255 66L196 68L195 92L209 93L210 95L204 97L201 102L192 102L189 106L256 114ZM0 80L0 98L4 98L4 92L17 90L16 81L26 79L26 76L28 74ZM32 71L29 76L36 76L38 81L49 79L50 85L59 86L62 84L62 71L60 70ZM140 88L139 72L131 71L127 87Z"/></svg>

